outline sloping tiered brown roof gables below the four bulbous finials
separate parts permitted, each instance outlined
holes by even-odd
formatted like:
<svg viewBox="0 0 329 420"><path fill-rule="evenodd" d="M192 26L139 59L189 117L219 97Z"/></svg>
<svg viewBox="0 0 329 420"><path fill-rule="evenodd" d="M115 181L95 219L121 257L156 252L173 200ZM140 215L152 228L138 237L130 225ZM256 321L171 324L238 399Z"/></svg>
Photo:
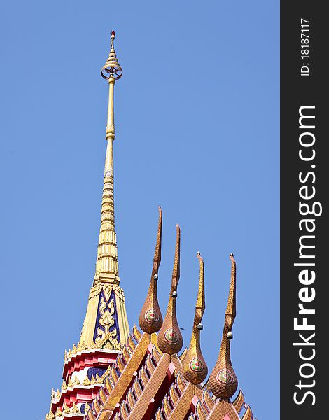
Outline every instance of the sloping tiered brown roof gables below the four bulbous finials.
<svg viewBox="0 0 329 420"><path fill-rule="evenodd" d="M216 398L208 382L195 385L184 378L186 351L181 356L162 353L155 335L141 334L136 326L129 341L125 356L118 356L109 370L87 419L253 419L241 391L230 402Z"/></svg>

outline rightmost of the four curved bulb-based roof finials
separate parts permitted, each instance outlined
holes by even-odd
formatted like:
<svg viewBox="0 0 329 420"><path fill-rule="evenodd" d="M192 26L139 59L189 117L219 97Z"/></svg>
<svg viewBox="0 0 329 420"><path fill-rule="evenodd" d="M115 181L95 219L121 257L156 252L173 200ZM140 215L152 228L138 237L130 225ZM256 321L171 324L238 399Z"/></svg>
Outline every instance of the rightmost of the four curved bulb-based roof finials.
<svg viewBox="0 0 329 420"><path fill-rule="evenodd" d="M228 307L225 312L225 324L221 349L214 370L209 378L209 388L217 398L228 399L237 391L237 376L233 370L230 358L230 340L233 338L232 326L235 321L236 264L234 255L230 254L231 283L228 295Z"/></svg>

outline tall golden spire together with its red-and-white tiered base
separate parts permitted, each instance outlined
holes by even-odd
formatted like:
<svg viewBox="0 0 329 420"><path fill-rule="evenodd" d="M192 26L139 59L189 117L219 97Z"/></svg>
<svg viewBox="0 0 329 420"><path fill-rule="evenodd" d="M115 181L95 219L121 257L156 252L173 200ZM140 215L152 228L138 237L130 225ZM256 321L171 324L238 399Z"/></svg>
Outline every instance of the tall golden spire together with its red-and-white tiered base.
<svg viewBox="0 0 329 420"><path fill-rule="evenodd" d="M106 124L106 158L103 179L102 214L97 248L94 283L90 288L87 313L77 345L65 351L62 392L52 398L48 418L81 416L92 404L95 389L106 377L106 368L113 364L129 335L125 295L120 288L118 251L114 223L114 85L123 71L114 49L115 34L111 34L111 52L102 68L102 77L109 82L109 105ZM83 388L83 392L80 388ZM77 391L78 390L78 391ZM50 416L50 417L49 417Z"/></svg>

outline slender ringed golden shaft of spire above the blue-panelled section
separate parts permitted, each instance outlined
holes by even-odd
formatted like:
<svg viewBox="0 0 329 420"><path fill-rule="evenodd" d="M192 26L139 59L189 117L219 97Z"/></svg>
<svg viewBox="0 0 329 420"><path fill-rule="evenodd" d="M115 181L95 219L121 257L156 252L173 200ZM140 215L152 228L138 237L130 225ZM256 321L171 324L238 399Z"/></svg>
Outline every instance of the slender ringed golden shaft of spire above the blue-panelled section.
<svg viewBox="0 0 329 420"><path fill-rule="evenodd" d="M114 49L115 33L111 34L111 52L104 67L102 77L109 81L109 106L106 125L106 159L104 169L104 186L102 198L101 228L99 232L99 245L97 249L96 273L94 285L97 283L120 282L118 271L118 249L116 245L116 230L114 227L114 168L113 168L113 141L115 139L114 128L114 85L122 74L116 50Z"/></svg>

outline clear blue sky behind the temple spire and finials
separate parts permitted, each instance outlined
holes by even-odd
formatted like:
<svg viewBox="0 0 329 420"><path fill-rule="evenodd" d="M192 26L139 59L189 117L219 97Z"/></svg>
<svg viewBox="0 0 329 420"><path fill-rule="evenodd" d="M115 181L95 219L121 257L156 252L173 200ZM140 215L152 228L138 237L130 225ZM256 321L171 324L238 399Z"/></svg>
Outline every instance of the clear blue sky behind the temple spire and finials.
<svg viewBox="0 0 329 420"><path fill-rule="evenodd" d="M164 211L167 305L190 341L205 262L202 350L214 367L237 260L232 363L258 420L279 418L279 1L7 2L1 25L1 405L44 419L92 285L106 141L99 71L116 30L116 230L130 326ZM26 410L26 411L25 411Z"/></svg>

